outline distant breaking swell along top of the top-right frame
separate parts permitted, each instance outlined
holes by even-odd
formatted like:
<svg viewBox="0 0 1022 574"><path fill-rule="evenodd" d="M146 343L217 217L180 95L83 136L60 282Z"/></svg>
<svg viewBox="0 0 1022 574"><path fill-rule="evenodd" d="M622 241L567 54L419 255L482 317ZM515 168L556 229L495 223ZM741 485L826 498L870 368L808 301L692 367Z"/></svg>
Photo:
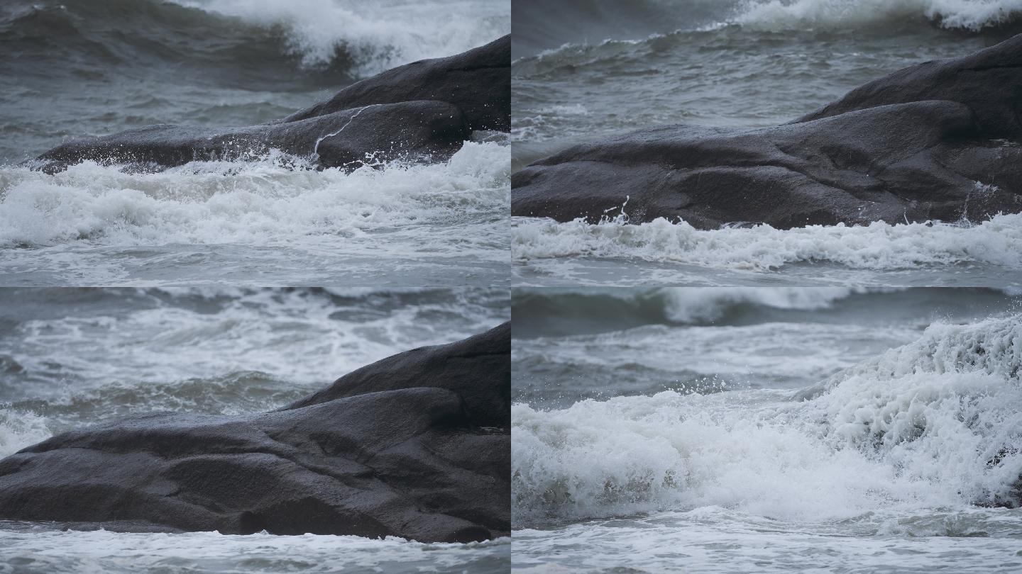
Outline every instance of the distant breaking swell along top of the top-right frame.
<svg viewBox="0 0 1022 574"><path fill-rule="evenodd" d="M565 0L557 4L556 9L522 9L515 15L516 31L522 30L515 33L516 58L540 56L547 65L578 63L579 59L585 63L594 54L584 48L603 47L607 57L612 57L622 44L655 48L665 40L721 29L883 34L939 27L986 34L1022 21L1022 0L688 0L682 5L645 0L641 7L632 0L599 4Z"/></svg>

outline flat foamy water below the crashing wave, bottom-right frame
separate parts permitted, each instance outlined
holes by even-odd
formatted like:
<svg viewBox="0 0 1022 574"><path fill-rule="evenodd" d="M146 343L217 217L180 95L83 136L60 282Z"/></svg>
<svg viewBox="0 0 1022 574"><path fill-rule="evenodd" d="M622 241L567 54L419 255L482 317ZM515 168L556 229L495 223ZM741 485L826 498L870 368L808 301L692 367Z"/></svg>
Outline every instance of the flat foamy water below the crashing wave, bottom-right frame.
<svg viewBox="0 0 1022 574"><path fill-rule="evenodd" d="M884 513L882 519L896 526L879 535L872 535L877 530L868 528L870 520L838 527L805 525L721 508L522 529L513 534L514 571L1007 574L1018 570L1018 515L1012 512Z"/></svg>

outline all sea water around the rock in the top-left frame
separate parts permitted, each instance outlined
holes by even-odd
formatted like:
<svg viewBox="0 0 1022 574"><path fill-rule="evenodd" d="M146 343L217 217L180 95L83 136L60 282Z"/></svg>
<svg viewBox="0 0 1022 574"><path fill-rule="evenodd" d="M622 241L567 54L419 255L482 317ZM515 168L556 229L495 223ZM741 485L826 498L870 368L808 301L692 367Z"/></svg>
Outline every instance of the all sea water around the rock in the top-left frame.
<svg viewBox="0 0 1022 574"><path fill-rule="evenodd" d="M20 164L151 124L269 122L508 32L508 0L4 2L0 283L506 284L499 134L475 134L445 163L351 174L279 153L160 174Z"/></svg>

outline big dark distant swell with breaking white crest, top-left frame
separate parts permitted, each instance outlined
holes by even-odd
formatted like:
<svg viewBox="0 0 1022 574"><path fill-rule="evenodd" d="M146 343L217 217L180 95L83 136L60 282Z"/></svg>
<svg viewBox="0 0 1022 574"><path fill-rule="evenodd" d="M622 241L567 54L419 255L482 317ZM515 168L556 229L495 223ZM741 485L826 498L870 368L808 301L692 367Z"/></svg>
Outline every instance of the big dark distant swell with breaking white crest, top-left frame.
<svg viewBox="0 0 1022 574"><path fill-rule="evenodd" d="M310 80L336 87L490 42L506 34L504 11L454 1L19 0L0 11L0 66L80 79L114 66L174 69L242 88L298 82L294 90Z"/></svg>

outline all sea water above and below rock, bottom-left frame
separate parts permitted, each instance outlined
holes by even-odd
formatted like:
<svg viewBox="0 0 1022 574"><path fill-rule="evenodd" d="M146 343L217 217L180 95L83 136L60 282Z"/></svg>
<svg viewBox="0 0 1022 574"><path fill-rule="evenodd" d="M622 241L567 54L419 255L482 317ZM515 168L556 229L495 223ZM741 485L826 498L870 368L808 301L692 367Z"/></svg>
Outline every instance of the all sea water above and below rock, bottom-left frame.
<svg viewBox="0 0 1022 574"><path fill-rule="evenodd" d="M2 288L0 456L130 414L272 410L510 318L504 288ZM0 521L0 572L506 572L508 539L126 534Z"/></svg>

